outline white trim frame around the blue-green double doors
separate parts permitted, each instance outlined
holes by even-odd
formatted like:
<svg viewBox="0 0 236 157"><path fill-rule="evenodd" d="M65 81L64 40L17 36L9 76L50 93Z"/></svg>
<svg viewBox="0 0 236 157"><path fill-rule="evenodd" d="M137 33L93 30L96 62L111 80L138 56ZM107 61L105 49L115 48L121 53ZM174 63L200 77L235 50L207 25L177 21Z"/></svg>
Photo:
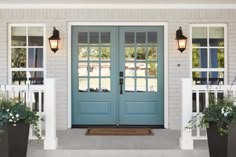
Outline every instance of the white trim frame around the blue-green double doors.
<svg viewBox="0 0 236 157"><path fill-rule="evenodd" d="M168 23L167 22L69 22L68 23L68 124L72 127L71 28L72 26L164 26L164 127L168 128Z"/></svg>

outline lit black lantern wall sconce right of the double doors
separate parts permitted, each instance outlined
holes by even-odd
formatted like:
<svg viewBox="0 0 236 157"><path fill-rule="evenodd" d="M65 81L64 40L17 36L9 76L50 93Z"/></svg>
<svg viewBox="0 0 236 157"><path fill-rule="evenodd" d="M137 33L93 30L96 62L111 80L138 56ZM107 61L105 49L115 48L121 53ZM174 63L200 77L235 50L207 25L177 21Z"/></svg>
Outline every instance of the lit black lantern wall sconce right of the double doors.
<svg viewBox="0 0 236 157"><path fill-rule="evenodd" d="M176 31L176 40L178 50L182 53L186 49L187 37L183 35L181 27L179 27L179 29Z"/></svg>

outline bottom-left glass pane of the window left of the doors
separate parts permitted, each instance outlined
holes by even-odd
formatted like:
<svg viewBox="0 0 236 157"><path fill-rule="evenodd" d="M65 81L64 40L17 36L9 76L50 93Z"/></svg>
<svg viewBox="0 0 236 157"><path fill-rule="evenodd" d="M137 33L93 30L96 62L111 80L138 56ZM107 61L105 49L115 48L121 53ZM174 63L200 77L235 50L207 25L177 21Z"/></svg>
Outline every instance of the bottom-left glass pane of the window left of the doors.
<svg viewBox="0 0 236 157"><path fill-rule="evenodd" d="M26 72L25 71L13 71L12 72L12 84L24 85L26 84Z"/></svg>

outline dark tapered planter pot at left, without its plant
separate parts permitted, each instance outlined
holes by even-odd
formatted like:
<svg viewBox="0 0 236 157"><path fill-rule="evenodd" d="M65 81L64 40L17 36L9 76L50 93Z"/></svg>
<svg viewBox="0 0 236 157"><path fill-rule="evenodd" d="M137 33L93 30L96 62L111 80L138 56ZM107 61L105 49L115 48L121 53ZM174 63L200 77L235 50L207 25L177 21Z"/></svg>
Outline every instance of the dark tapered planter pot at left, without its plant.
<svg viewBox="0 0 236 157"><path fill-rule="evenodd" d="M0 134L0 152L1 157L26 157L29 124L22 122L12 126L6 123L3 126L4 132Z"/></svg>

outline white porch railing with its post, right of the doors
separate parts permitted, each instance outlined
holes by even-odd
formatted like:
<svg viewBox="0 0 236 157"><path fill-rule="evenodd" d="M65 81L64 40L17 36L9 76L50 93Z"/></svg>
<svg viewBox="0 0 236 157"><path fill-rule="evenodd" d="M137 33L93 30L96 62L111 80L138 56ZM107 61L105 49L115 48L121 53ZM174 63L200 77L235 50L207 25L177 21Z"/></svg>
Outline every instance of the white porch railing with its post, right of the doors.
<svg viewBox="0 0 236 157"><path fill-rule="evenodd" d="M182 79L182 102L181 102L181 149L193 149L193 140L206 140L206 129L198 127L200 123L196 121L194 129L186 128L193 116L201 114L202 110L208 106L209 94L215 98L223 97L230 93L235 98L235 85L192 85L192 79Z"/></svg>

